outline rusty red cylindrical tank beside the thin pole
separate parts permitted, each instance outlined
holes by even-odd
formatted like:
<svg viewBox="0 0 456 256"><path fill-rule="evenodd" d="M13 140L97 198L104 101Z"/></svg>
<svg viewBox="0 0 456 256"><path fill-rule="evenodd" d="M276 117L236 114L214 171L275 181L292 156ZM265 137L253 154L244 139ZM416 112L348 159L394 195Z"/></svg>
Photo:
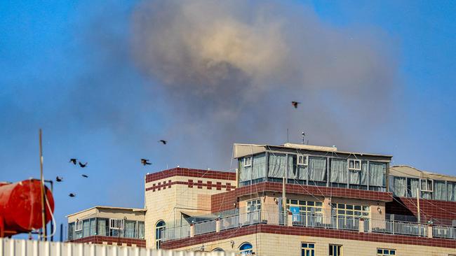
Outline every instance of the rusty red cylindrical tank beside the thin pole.
<svg viewBox="0 0 456 256"><path fill-rule="evenodd" d="M30 232L43 227L41 217L41 182L40 180L22 180L18 183L0 184L0 229L4 236ZM51 211L54 211L52 193L45 186L46 197ZM51 220L49 208L45 202L46 223ZM0 237L1 237L0 230Z"/></svg>

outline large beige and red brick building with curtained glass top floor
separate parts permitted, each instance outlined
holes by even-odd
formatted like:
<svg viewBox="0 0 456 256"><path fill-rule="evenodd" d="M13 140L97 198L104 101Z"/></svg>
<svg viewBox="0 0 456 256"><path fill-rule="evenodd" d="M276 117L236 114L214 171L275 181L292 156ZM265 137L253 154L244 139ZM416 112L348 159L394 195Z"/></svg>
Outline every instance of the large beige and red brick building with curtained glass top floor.
<svg viewBox="0 0 456 256"><path fill-rule="evenodd" d="M145 177L147 247L456 255L455 177L389 166L390 155L290 143L235 144L234 158L236 172Z"/></svg>

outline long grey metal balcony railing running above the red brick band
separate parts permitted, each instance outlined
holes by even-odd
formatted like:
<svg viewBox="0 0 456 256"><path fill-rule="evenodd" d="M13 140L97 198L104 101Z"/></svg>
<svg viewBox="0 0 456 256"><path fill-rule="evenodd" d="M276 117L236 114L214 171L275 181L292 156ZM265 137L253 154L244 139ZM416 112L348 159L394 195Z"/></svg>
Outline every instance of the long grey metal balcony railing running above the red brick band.
<svg viewBox="0 0 456 256"><path fill-rule="evenodd" d="M401 234L405 236L456 239L456 227L449 226L428 226L416 222L400 222L394 220L344 218L311 214L287 215L279 212L253 211L251 213L230 215L218 220L197 222L194 223L194 227L191 225L182 225L178 227L166 228L163 232L163 241L184 239L199 234L220 232L222 230L236 229L255 224L316 227L366 233Z"/></svg>

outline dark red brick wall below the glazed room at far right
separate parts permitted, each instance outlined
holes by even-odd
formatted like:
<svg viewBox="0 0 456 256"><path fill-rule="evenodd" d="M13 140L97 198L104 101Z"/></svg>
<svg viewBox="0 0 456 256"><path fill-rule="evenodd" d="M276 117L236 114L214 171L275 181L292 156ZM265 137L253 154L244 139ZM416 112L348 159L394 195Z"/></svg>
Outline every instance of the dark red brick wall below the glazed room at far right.
<svg viewBox="0 0 456 256"><path fill-rule="evenodd" d="M417 216L416 198L395 197L395 199L397 201L394 200L387 203L387 213ZM422 220L427 221L433 219L434 224L452 225L452 220L456 220L455 201L420 199L420 211Z"/></svg>

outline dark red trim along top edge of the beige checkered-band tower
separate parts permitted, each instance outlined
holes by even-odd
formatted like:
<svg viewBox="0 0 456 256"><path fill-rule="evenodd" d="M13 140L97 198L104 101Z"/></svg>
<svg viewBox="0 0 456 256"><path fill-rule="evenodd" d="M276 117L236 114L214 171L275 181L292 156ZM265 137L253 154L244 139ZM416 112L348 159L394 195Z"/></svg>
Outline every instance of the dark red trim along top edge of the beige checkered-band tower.
<svg viewBox="0 0 456 256"><path fill-rule="evenodd" d="M194 177L194 178L212 178L218 180L236 180L236 173L229 171L209 171L201 169L173 168L157 173L147 174L145 177L146 183L151 183L155 180L163 180L174 176Z"/></svg>

